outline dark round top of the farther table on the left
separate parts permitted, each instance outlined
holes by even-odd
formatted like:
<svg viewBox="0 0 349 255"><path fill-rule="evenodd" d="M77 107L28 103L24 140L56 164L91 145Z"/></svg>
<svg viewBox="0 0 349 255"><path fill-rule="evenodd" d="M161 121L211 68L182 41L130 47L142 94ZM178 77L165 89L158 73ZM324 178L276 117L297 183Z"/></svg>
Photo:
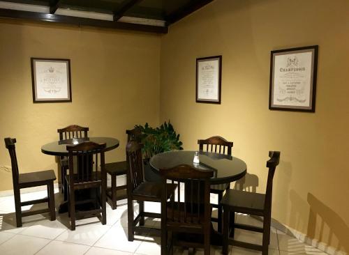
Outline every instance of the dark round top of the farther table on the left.
<svg viewBox="0 0 349 255"><path fill-rule="evenodd" d="M119 140L112 137L86 137L86 138L77 138L75 139L77 143L83 141L93 141L96 144L106 144L105 151L112 150L119 146ZM52 141L49 144L45 144L41 147L41 152L47 155L54 156L68 156L68 150L66 146L68 144L73 144L73 139L61 140L61 141Z"/></svg>

